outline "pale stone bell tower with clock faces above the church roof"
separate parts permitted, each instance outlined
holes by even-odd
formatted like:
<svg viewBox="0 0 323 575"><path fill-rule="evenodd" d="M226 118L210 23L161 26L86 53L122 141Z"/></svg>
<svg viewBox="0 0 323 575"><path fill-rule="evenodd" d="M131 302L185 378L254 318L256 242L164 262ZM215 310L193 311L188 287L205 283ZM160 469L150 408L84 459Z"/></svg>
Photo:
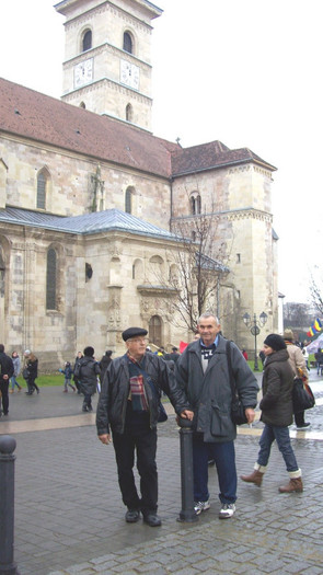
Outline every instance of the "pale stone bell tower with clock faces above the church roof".
<svg viewBox="0 0 323 575"><path fill-rule="evenodd" d="M151 130L152 20L148 0L62 0L61 100Z"/></svg>

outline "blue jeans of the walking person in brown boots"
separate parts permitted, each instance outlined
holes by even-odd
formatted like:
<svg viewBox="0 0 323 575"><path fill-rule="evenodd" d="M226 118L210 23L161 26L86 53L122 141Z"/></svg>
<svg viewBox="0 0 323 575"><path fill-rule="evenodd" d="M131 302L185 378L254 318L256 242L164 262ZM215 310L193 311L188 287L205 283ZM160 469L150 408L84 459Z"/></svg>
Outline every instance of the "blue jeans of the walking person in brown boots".
<svg viewBox="0 0 323 575"><path fill-rule="evenodd" d="M292 450L288 427L276 427L265 424L259 446L257 463L266 467L270 456L272 444L277 441L278 449L284 457L287 471L298 471L298 464Z"/></svg>

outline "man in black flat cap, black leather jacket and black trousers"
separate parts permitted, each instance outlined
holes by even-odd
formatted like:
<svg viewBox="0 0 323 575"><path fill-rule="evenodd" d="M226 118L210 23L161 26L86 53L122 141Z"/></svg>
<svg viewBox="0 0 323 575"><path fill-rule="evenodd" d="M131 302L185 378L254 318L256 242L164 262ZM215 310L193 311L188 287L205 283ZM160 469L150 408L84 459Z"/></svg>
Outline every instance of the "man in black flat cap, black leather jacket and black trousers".
<svg viewBox="0 0 323 575"><path fill-rule="evenodd" d="M147 330L123 332L127 353L114 359L104 376L96 412L99 439L108 445L111 430L118 469L126 521L135 524L142 513L150 527L161 525L157 515L158 474L155 464L158 407L161 390L171 399L178 415L192 419L188 402L176 386L166 361L146 354ZM135 450L140 475L141 498L134 478Z"/></svg>

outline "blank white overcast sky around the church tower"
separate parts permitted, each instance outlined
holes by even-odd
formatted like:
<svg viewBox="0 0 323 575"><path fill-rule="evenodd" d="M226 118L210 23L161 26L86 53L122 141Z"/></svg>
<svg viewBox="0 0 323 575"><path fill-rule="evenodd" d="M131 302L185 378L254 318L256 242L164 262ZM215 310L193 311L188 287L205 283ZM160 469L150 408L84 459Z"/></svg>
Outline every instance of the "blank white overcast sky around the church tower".
<svg viewBox="0 0 323 575"><path fill-rule="evenodd" d="M323 254L322 0L154 3L154 134L246 147L278 168L279 291L307 301ZM59 97L65 19L53 4L1 0L0 76Z"/></svg>

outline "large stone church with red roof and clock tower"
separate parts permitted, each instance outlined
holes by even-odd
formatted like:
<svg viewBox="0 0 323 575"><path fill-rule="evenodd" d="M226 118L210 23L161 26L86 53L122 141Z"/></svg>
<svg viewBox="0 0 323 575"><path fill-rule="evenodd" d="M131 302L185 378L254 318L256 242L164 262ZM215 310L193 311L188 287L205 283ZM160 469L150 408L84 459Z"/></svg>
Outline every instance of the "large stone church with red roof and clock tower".
<svg viewBox="0 0 323 575"><path fill-rule="evenodd" d="M275 168L247 148L183 149L151 134L151 2L56 10L62 102L0 80L0 340L47 370L90 344L97 357L123 353L129 325L157 346L191 341L166 284L178 223L193 234L205 217L230 271L217 298L223 333L252 349L245 311L265 311L267 333L278 324Z"/></svg>

